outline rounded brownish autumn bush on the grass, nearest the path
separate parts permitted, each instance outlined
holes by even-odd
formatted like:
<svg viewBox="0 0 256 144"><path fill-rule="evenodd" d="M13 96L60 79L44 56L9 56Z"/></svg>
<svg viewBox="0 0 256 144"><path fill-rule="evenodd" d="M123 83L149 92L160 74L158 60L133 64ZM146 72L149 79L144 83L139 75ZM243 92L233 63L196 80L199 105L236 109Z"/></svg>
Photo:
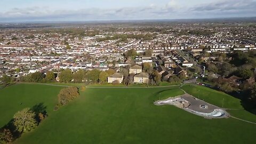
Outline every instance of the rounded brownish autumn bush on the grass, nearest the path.
<svg viewBox="0 0 256 144"><path fill-rule="evenodd" d="M66 105L69 101L79 96L77 87L67 87L60 90L58 94L58 101L60 105Z"/></svg>

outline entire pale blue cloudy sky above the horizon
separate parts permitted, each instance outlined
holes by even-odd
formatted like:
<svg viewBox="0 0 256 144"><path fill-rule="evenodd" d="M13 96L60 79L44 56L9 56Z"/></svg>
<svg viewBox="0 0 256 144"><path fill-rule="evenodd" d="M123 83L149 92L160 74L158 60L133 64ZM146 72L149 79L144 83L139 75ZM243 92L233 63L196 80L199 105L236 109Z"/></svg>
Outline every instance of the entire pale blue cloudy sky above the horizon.
<svg viewBox="0 0 256 144"><path fill-rule="evenodd" d="M256 0L0 0L0 22L255 17Z"/></svg>

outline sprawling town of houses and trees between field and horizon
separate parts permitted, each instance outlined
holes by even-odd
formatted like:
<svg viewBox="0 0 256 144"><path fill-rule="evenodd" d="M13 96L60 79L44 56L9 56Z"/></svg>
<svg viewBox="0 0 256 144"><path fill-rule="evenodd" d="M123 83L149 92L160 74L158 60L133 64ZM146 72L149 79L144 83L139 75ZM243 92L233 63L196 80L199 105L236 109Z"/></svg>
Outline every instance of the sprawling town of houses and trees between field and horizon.
<svg viewBox="0 0 256 144"><path fill-rule="evenodd" d="M250 22L20 25L1 26L0 74L11 81L254 88L256 26ZM49 71L54 76L47 78ZM63 71L72 76L63 78Z"/></svg>

